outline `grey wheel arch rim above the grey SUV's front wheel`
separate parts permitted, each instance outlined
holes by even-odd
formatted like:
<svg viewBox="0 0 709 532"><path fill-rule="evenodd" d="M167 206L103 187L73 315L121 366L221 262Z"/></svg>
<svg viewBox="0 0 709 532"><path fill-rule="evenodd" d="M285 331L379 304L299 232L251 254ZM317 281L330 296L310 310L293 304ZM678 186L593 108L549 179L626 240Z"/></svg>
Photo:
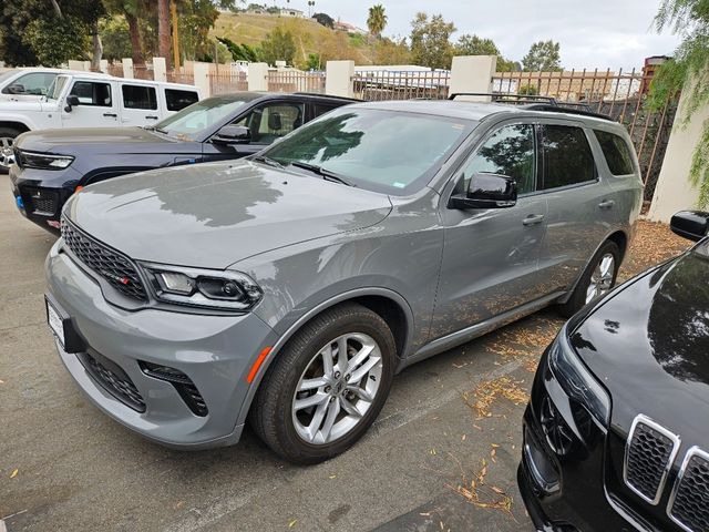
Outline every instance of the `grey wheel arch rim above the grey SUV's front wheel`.
<svg viewBox="0 0 709 532"><path fill-rule="evenodd" d="M413 311L400 294L383 287L358 288L339 294L321 301L319 305L316 305L305 313L278 338L259 367L254 381L249 386L248 393L246 395L244 403L239 410L237 426L246 422L246 417L251 409L256 390L258 390L268 368L278 357L279 351L288 340L292 338L292 336L300 330L302 326L311 321L314 318L342 303L358 303L381 316L381 318L390 326L394 336L398 358L401 359L405 356L407 350L411 346L414 324Z"/></svg>

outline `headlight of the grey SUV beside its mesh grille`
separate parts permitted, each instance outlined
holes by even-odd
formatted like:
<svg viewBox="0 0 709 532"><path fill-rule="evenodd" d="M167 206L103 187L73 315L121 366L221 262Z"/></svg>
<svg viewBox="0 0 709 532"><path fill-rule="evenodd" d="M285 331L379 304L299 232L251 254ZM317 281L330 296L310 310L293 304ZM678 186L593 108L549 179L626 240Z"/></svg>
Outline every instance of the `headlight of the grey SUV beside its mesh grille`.
<svg viewBox="0 0 709 532"><path fill-rule="evenodd" d="M263 297L260 287L238 272L141 263L158 300L220 310L248 310Z"/></svg>

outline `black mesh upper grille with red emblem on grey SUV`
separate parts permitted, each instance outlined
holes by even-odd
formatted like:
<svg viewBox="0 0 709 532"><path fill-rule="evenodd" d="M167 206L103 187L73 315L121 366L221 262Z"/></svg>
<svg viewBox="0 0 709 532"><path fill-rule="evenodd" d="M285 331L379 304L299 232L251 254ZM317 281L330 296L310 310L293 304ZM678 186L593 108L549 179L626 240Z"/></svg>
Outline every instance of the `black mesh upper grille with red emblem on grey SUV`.
<svg viewBox="0 0 709 532"><path fill-rule="evenodd" d="M79 260L124 296L140 301L147 300L141 276L131 259L82 233L64 218L61 231L66 247Z"/></svg>

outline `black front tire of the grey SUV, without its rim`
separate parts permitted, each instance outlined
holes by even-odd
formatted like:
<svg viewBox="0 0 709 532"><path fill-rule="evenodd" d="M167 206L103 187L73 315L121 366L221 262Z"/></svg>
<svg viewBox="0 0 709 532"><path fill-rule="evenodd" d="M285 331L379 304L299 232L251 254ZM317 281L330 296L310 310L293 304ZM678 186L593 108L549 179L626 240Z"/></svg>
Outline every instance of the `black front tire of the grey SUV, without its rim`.
<svg viewBox="0 0 709 532"><path fill-rule="evenodd" d="M292 421L296 387L322 346L348 332L363 332L379 346L382 360L379 388L371 406L350 432L329 443L312 444L298 436ZM278 354L254 398L250 424L274 452L290 462L310 464L336 457L359 440L377 419L391 388L395 358L393 335L378 314L354 303L328 309L306 324Z"/></svg>

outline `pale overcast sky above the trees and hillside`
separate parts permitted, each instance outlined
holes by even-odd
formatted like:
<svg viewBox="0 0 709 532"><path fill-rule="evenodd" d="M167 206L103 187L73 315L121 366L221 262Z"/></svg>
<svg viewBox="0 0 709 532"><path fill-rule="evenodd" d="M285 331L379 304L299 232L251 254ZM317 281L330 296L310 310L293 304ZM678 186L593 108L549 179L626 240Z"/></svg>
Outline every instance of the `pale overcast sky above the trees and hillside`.
<svg viewBox="0 0 709 532"><path fill-rule="evenodd" d="M384 35L408 35L418 11L441 13L458 28L453 40L463 33L490 38L515 61L535 41L558 41L565 69L639 68L645 58L671 54L679 43L669 31L655 30L659 0L316 0L314 12L367 28L374 3L384 6L389 19ZM308 12L307 0L288 6Z"/></svg>

